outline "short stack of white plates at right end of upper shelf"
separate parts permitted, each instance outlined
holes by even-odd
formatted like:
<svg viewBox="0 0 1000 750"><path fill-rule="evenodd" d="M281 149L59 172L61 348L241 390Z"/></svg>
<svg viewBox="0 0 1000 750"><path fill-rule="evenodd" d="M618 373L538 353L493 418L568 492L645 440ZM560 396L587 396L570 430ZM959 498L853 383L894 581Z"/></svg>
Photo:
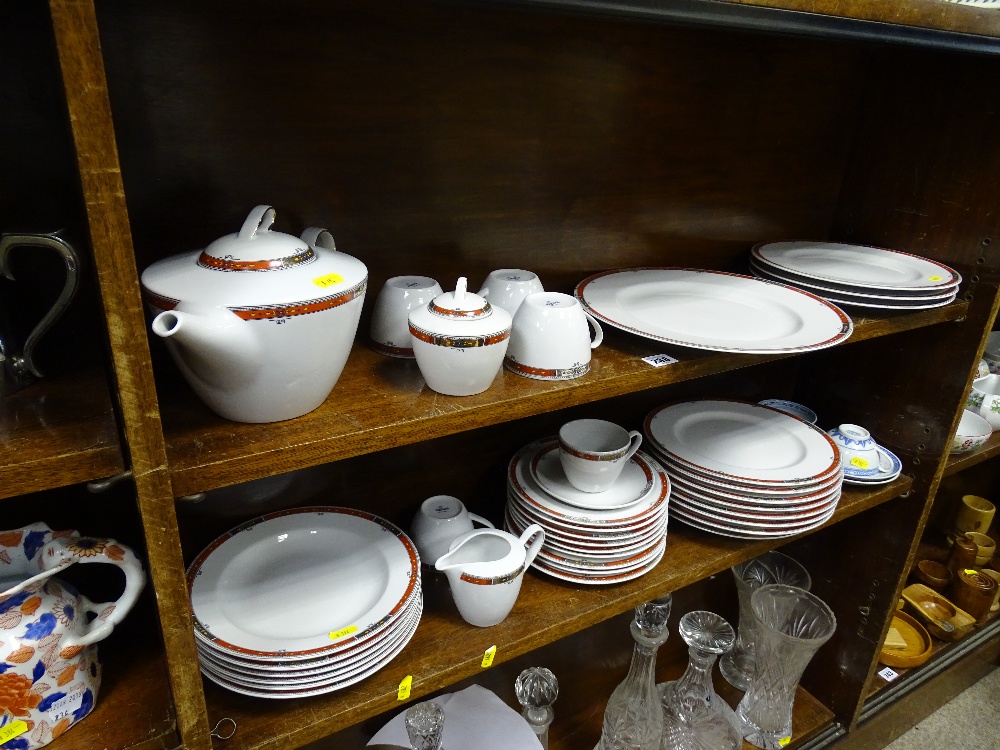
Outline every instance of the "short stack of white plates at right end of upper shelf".
<svg viewBox="0 0 1000 750"><path fill-rule="evenodd" d="M750 268L838 305L926 310L955 300L962 277L937 261L897 250L834 242L767 242Z"/></svg>

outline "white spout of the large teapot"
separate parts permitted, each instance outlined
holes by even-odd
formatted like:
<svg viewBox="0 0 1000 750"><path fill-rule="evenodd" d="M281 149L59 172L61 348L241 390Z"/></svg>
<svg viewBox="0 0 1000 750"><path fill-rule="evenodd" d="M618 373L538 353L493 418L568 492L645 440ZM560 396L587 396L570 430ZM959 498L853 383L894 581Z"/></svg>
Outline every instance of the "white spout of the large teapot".
<svg viewBox="0 0 1000 750"><path fill-rule="evenodd" d="M182 302L153 318L152 329L172 342L187 368L212 386L250 383L264 363L250 323L225 307Z"/></svg>

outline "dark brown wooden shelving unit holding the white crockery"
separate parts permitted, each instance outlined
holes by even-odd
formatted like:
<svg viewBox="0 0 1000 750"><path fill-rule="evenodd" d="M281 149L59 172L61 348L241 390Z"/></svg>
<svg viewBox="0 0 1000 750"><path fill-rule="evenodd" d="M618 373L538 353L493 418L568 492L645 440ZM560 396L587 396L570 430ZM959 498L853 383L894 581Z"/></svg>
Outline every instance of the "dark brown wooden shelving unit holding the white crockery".
<svg viewBox="0 0 1000 750"><path fill-rule="evenodd" d="M536 652L624 643L604 626L668 591L731 616L719 574L775 543L672 522L667 553L645 576L585 588L532 572L512 615L490 629L465 625L441 582L428 581L420 627L385 669L339 693L266 701L202 679L184 582L202 537L234 525L210 505L215 491L239 498L244 482L329 468L331 502L395 520L412 517L415 493L441 485L495 506L503 490L490 483L511 447L563 415L634 421L656 403L719 393L807 403L865 425L903 460L899 480L848 490L823 528L779 542L813 572L839 623L800 688L795 745L850 736L870 697L890 705L885 691L871 694L877 644L938 484L1000 454L993 439L947 456L1000 307L1000 15L939 0L292 0L265 24L235 0L31 8L0 31L51 59L31 72L5 66L13 83L0 78L10 102L0 123L32 131L42 111L66 148L39 135L42 162L19 161L17 149L0 156L0 220L37 173L61 175L58 190L36 192L57 213L86 217L108 362L70 367L0 405L0 492L33 507L33 493L130 469L142 536L130 541L148 556L161 636L150 627L133 649L107 654L95 712L53 750L357 744L402 707L405 674L412 699L432 695L482 677L482 653L496 645L491 679L509 685ZM855 315L851 340L830 350L668 350L679 361L653 369L641 357L663 347L606 330L579 381L505 372L466 399L429 393L412 363L370 351L364 317L323 406L236 424L212 415L160 343L150 346L138 277L238 228L263 201L283 231L330 226L367 264L370 299L400 273L450 288L459 275L474 283L527 267L570 291L607 268L739 271L755 242L796 237L903 249L964 281L944 308ZM179 522L175 499L202 492L205 512ZM110 507L95 503L95 525ZM248 502L240 520L259 512ZM579 710L553 747L589 746L620 675L561 668L567 702L590 692L574 697ZM224 717L237 732L213 740Z"/></svg>

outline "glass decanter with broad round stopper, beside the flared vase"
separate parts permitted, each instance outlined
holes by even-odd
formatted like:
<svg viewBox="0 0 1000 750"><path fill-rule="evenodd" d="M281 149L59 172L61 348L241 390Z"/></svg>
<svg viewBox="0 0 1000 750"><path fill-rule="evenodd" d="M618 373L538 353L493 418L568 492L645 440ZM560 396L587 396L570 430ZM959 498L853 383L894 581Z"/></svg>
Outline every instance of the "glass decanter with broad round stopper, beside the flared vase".
<svg viewBox="0 0 1000 750"><path fill-rule="evenodd" d="M715 660L736 641L732 625L698 611L684 615L677 630L688 645L688 666L679 680L656 686L663 705L660 750L739 750L739 721L712 685Z"/></svg>

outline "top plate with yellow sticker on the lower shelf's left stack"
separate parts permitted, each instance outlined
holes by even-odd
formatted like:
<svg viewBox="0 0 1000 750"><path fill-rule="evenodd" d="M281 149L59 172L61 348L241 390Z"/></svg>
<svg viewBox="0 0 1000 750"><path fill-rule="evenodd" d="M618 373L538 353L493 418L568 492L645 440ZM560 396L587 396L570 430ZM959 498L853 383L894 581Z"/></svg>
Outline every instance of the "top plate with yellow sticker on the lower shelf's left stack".
<svg viewBox="0 0 1000 750"><path fill-rule="evenodd" d="M228 531L191 564L195 635L267 659L350 648L395 620L419 572L406 534L371 513L271 513Z"/></svg>

